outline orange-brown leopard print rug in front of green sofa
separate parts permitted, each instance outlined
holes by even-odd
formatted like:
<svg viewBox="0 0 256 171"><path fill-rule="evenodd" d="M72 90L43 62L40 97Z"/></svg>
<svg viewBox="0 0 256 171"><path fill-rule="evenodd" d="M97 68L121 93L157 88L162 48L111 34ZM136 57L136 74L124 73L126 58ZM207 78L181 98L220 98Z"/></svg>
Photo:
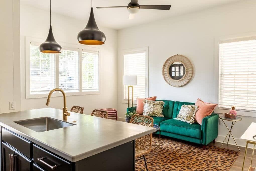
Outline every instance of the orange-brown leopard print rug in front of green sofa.
<svg viewBox="0 0 256 171"><path fill-rule="evenodd" d="M239 155L239 151L153 136L152 149L146 154L148 170L228 170ZM146 170L144 160L135 163L136 170Z"/></svg>

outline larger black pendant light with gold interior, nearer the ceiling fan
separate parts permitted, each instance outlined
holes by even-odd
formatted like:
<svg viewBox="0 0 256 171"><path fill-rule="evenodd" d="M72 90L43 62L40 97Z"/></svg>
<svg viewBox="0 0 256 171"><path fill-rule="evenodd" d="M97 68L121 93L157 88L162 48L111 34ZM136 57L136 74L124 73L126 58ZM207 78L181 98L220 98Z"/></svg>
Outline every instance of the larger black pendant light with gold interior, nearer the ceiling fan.
<svg viewBox="0 0 256 171"><path fill-rule="evenodd" d="M91 7L91 14L86 27L77 35L77 40L81 44L86 45L102 45L105 43L106 36L99 30Z"/></svg>

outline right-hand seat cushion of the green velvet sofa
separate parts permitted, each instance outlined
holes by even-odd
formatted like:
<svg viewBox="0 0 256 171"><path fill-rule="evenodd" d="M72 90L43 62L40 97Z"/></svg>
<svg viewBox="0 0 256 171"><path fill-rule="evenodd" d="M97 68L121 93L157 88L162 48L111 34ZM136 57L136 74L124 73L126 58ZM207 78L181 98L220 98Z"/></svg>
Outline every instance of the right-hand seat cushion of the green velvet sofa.
<svg viewBox="0 0 256 171"><path fill-rule="evenodd" d="M162 121L160 123L160 129L161 131L175 133L178 135L183 135L187 137L193 137L201 139L201 125L194 123L194 124L188 124L186 122L176 120L176 119L168 119L165 121Z"/></svg>

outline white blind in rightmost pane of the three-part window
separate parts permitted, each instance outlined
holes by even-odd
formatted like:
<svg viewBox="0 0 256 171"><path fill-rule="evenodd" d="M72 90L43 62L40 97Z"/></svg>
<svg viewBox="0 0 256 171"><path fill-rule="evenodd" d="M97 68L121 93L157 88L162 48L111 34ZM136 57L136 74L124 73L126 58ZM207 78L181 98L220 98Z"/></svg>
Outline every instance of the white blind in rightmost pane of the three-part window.
<svg viewBox="0 0 256 171"><path fill-rule="evenodd" d="M99 90L99 53L83 50L82 54L83 91Z"/></svg>

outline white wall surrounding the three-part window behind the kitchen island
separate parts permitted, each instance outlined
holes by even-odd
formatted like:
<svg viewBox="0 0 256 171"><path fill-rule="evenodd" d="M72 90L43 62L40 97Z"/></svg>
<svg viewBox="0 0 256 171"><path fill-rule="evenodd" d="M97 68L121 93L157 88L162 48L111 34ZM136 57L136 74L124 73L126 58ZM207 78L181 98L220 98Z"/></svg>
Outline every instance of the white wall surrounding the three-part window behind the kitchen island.
<svg viewBox="0 0 256 171"><path fill-rule="evenodd" d="M25 36L46 39L49 31L49 11L33 8L26 5L20 6L20 43L21 43L21 110L47 107L46 98L26 99L25 84ZM97 18L96 18L97 21ZM86 23L52 14L52 30L57 42L81 45L77 42L77 34L85 27ZM104 45L97 46L101 49L101 94L67 96L67 107L83 106L84 114L91 114L93 109L116 108L116 69L117 69L117 31L100 27L106 35ZM49 107L62 108L63 97L51 97Z"/></svg>

